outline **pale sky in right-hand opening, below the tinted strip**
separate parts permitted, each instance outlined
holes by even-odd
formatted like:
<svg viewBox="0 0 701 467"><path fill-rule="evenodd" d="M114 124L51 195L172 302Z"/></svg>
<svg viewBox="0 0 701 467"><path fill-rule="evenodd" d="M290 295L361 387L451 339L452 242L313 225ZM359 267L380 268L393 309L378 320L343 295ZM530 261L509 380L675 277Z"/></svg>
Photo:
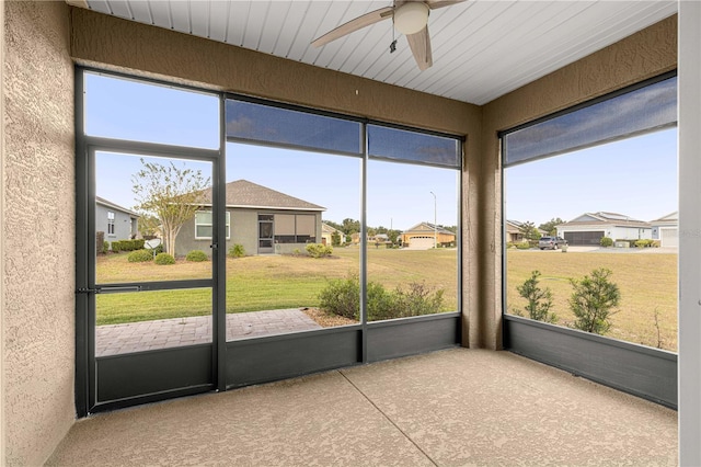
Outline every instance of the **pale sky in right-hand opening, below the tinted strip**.
<svg viewBox="0 0 701 467"><path fill-rule="evenodd" d="M677 210L677 129L554 156L506 169L510 220L572 220L619 213L653 220Z"/></svg>

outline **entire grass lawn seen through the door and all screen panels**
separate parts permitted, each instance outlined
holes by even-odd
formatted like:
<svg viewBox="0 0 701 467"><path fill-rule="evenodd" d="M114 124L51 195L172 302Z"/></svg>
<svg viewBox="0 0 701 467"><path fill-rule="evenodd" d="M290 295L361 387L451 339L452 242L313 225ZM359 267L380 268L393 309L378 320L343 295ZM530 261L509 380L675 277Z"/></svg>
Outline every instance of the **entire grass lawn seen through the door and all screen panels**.
<svg viewBox="0 0 701 467"><path fill-rule="evenodd" d="M97 259L100 283L203 278L211 276L211 263L179 260L172 266L129 263L127 254ZM507 309L525 306L516 286L541 272L541 286L554 297L554 311L563 326L574 321L567 299L568 280L608 267L621 289L619 312L612 317L609 335L657 346L658 322L662 346L677 349L677 255L666 253L608 253L560 251L507 251ZM227 260L227 312L314 307L319 293L332 278L357 274L357 248L334 250L333 258L266 255ZM425 281L445 291L446 310L457 308L456 250L368 250L368 277L387 289ZM211 312L211 293L207 289L143 292L97 295L97 324L203 316Z"/></svg>

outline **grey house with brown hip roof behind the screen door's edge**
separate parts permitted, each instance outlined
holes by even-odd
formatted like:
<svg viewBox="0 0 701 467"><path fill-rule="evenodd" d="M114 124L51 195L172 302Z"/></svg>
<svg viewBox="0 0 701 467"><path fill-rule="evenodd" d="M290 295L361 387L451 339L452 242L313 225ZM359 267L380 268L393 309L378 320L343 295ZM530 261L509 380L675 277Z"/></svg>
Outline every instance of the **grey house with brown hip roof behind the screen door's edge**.
<svg viewBox="0 0 701 467"><path fill-rule="evenodd" d="M304 251L322 239L321 213L325 207L257 185L248 180L227 183L227 251L243 246L246 254ZM192 250L211 254L211 190L204 193L202 209L175 239L175 254Z"/></svg>

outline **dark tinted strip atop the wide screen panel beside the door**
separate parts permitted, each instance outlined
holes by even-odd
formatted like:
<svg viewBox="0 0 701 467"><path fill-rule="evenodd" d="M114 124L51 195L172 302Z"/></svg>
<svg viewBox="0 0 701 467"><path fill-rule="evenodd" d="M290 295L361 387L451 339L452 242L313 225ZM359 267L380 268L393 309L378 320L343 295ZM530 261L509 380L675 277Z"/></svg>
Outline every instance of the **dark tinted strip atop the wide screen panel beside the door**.
<svg viewBox="0 0 701 467"><path fill-rule="evenodd" d="M358 122L234 100L227 101L226 114L227 138L363 153Z"/></svg>

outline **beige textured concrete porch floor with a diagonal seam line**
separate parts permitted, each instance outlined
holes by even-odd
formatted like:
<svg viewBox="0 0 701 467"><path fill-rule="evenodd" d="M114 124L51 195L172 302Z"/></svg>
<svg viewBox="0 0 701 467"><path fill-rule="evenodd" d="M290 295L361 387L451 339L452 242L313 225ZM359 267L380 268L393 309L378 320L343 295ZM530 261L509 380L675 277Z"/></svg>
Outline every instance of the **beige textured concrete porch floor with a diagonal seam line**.
<svg viewBox="0 0 701 467"><path fill-rule="evenodd" d="M675 466L677 413L453 349L78 421L49 466Z"/></svg>

